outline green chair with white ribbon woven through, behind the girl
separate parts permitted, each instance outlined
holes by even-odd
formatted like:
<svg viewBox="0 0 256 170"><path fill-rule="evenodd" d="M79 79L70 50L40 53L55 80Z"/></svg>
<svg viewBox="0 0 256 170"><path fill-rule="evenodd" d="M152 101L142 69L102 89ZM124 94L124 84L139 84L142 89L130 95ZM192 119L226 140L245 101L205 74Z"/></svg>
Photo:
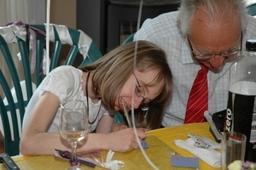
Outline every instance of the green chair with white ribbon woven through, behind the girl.
<svg viewBox="0 0 256 170"><path fill-rule="evenodd" d="M22 22L0 27L0 50L9 68L4 73L0 68L0 127L3 126L4 152L10 156L20 154L20 133L26 105L32 97L35 88L44 79L42 61L45 44L44 25L25 25ZM27 41L30 40L30 41ZM87 65L102 57L96 43L83 31L67 28L66 26L49 26L50 65L49 71L60 65L59 60L63 46L70 46L64 65ZM14 58L9 49L10 44L16 44L20 50L20 62L24 78L20 78ZM34 55L33 55L34 54ZM77 59L79 58L79 59ZM35 59L34 73L30 62ZM76 64L81 60L79 64ZM63 65L63 64L61 64ZM11 79L11 82L8 80ZM14 86L13 86L14 85ZM13 88L14 87L14 88ZM1 89L2 88L2 89Z"/></svg>

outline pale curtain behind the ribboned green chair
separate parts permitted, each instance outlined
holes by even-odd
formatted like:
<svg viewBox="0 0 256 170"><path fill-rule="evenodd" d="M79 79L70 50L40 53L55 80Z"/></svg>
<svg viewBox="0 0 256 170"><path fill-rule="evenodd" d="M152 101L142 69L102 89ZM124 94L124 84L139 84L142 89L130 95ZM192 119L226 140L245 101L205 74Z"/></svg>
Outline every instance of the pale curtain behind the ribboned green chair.
<svg viewBox="0 0 256 170"><path fill-rule="evenodd" d="M28 24L43 24L45 22L45 0L0 0L0 26L5 26L9 22L21 20ZM18 73L22 69L20 60L17 57L19 53L16 44L10 45L10 51L17 65ZM9 74L2 53L0 53L0 68L3 74ZM24 76L19 75L22 79ZM13 87L10 77L7 80L9 86ZM0 95L3 96L3 89L0 88Z"/></svg>

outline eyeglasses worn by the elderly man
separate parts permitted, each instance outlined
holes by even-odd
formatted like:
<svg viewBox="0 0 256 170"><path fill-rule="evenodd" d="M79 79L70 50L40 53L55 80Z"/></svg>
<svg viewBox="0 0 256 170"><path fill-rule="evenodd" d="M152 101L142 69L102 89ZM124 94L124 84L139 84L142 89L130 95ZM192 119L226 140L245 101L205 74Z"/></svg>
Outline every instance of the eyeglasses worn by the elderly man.
<svg viewBox="0 0 256 170"><path fill-rule="evenodd" d="M230 48L227 51L220 52L220 54L214 54L214 53L195 54L195 52L193 51L191 42L189 40L189 36L188 36L188 41L189 41L189 47L191 48L191 52L194 55L195 59L211 59L215 55L220 55L224 58L230 58L230 57L238 54L241 51L241 48L242 48L242 33L241 33L241 37L240 37L240 48L238 48L238 49L237 48Z"/></svg>

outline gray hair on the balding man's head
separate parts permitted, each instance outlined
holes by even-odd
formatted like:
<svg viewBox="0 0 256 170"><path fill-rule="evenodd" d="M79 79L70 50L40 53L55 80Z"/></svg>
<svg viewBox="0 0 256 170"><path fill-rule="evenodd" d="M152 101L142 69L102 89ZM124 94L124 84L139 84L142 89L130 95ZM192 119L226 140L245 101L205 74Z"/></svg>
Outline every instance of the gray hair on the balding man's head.
<svg viewBox="0 0 256 170"><path fill-rule="evenodd" d="M207 7L207 10L205 10ZM240 16L241 30L247 26L247 8L245 0L182 0L177 23L183 36L189 34L190 21L195 11L201 8L211 20L229 21L234 17L234 11Z"/></svg>

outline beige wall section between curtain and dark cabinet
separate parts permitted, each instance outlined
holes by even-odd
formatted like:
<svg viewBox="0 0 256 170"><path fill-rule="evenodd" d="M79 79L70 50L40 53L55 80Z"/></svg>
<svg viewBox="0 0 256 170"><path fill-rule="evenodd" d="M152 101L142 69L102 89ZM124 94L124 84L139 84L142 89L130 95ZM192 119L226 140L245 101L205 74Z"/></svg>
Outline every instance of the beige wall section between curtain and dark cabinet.
<svg viewBox="0 0 256 170"><path fill-rule="evenodd" d="M65 25L76 29L76 6L76 0L51 0L49 22L53 24Z"/></svg>

